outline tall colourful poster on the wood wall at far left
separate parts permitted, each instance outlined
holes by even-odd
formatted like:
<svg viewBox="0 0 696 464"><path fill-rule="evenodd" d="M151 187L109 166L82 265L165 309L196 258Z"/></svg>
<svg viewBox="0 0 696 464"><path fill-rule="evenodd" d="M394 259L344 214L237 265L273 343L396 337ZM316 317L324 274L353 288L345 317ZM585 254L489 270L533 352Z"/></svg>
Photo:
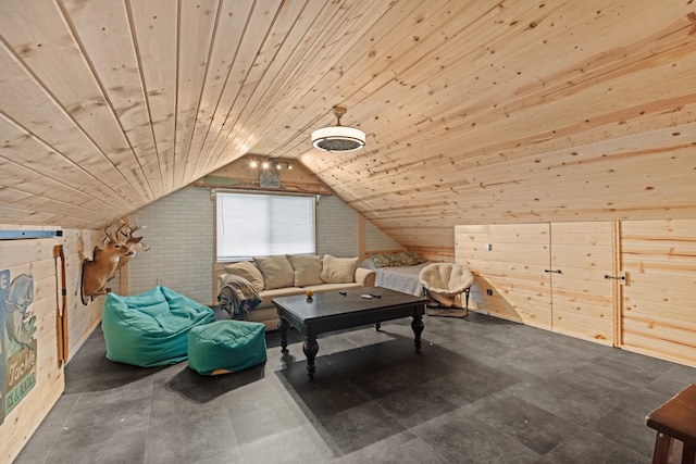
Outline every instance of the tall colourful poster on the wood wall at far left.
<svg viewBox="0 0 696 464"><path fill-rule="evenodd" d="M36 385L34 278L0 271L0 424Z"/></svg>

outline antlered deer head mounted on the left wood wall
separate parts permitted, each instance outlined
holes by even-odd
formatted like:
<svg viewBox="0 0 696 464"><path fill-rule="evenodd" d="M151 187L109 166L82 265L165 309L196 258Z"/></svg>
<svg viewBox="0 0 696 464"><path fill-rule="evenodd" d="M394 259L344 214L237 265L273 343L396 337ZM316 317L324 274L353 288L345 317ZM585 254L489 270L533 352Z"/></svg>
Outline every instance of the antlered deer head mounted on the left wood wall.
<svg viewBox="0 0 696 464"><path fill-rule="evenodd" d="M102 248L96 247L92 260L83 261L82 299L87 304L89 297L107 293L107 281L115 277L116 271L135 256L137 251L149 250L142 237L133 237L140 229L130 225L127 217L110 221L104 225Z"/></svg>

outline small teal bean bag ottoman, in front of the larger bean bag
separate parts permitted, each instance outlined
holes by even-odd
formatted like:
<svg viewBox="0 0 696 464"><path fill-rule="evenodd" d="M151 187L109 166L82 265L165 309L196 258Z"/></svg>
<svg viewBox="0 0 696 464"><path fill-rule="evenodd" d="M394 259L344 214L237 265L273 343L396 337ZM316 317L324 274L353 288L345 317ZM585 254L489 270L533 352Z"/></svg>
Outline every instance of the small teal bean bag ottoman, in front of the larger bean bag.
<svg viewBox="0 0 696 464"><path fill-rule="evenodd" d="M265 325L217 321L188 333L188 366L202 375L239 372L265 362Z"/></svg>

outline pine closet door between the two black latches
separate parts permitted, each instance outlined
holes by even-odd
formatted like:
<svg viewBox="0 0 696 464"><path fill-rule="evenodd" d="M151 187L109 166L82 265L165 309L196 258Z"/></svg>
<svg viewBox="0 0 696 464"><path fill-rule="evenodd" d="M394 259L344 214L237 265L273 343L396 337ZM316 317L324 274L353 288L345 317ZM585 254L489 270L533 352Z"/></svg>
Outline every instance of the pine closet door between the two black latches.
<svg viewBox="0 0 696 464"><path fill-rule="evenodd" d="M551 223L552 330L613 343L617 251L611 222Z"/></svg>

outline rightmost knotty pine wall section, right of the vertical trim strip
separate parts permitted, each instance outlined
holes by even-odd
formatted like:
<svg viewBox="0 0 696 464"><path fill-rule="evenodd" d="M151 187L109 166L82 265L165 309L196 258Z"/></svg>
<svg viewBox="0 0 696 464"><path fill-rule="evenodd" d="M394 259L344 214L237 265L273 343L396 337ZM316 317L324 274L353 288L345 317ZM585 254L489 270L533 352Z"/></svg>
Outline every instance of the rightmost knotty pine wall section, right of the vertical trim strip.
<svg viewBox="0 0 696 464"><path fill-rule="evenodd" d="M696 220L621 223L626 350L696 367Z"/></svg>

